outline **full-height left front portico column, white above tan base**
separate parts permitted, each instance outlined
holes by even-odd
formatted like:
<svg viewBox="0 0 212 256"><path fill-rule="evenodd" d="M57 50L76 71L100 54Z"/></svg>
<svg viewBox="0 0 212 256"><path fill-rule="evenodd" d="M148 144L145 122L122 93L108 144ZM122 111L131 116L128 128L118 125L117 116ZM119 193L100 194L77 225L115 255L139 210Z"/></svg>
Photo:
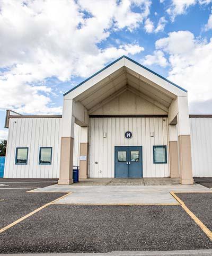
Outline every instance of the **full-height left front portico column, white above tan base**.
<svg viewBox="0 0 212 256"><path fill-rule="evenodd" d="M60 148L60 174L59 185L73 183L73 149L74 149L74 122L72 116L73 101L64 100L63 128Z"/></svg>

